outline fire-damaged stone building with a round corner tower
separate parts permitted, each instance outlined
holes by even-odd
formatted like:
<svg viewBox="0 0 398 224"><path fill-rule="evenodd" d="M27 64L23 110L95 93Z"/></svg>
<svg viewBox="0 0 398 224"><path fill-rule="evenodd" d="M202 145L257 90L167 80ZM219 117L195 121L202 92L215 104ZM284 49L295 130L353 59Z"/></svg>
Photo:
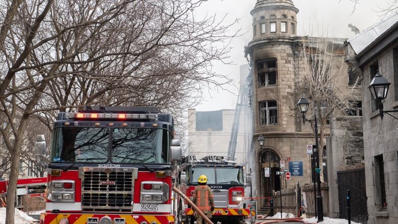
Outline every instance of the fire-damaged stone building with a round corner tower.
<svg viewBox="0 0 398 224"><path fill-rule="evenodd" d="M269 188L285 188L285 181L276 176L280 170L280 160L290 159L301 162L302 176L293 176L287 187L295 183L311 183L311 164L306 154L306 145L314 144L311 125L303 126L301 114L296 109L300 95L297 93L297 77L300 76L302 59L297 46L303 41L316 41L316 37L296 35L296 18L299 9L291 0L258 0L251 11L253 16L253 40L246 47L253 69L253 126L252 148L248 152L247 168L255 170L253 194L257 197L269 196ZM319 38L334 45L334 51L343 52L341 38ZM337 69L343 62L342 54L336 54L336 63L330 69ZM346 81L338 84L342 91L349 89L349 74ZM282 103L281 103L282 102ZM360 104L358 104L360 105ZM344 112L343 112L344 113ZM308 118L311 113L308 113ZM344 115L344 114L343 114ZM352 115L359 115L357 113ZM260 148L257 139L262 135L265 145ZM323 148L322 146L319 146ZM326 148L324 149L326 150ZM270 155L268 154L270 152ZM265 178L264 168L271 160L271 186ZM286 169L289 163L286 162ZM264 201L260 200L260 207Z"/></svg>

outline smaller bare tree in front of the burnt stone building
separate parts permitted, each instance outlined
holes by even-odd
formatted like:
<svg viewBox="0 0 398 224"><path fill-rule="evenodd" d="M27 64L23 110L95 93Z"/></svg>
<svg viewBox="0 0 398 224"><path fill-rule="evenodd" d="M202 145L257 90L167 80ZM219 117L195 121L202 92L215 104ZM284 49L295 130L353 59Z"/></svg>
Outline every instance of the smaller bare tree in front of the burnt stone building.
<svg viewBox="0 0 398 224"><path fill-rule="evenodd" d="M305 95L313 117L318 120L319 164L322 164L328 120L335 115L350 113L359 100L358 78L348 84L349 67L344 63L342 43L327 38L303 38L297 46L299 66L296 66L296 95ZM295 99L292 107L295 107ZM300 113L299 113L300 114ZM322 168L322 166L321 166ZM322 172L321 172L322 174Z"/></svg>

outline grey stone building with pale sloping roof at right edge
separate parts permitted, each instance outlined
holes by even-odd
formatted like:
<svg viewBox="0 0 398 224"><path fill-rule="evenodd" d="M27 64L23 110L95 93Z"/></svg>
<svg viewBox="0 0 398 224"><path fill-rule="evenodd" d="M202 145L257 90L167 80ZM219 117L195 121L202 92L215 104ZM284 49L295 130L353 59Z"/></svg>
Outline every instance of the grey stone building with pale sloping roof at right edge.
<svg viewBox="0 0 398 224"><path fill-rule="evenodd" d="M398 14L346 42L346 62L362 78L363 138L369 224L398 223L398 120L380 117L368 86L377 71L391 83L384 110L398 108Z"/></svg>

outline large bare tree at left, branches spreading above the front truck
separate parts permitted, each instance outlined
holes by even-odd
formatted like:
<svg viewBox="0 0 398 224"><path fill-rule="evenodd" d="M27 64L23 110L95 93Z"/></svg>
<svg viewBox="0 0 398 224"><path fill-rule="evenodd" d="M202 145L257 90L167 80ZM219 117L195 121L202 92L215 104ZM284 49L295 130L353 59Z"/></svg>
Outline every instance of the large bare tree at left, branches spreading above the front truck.
<svg viewBox="0 0 398 224"><path fill-rule="evenodd" d="M58 111L83 105L147 105L181 114L229 63L232 24L197 19L202 0L3 0L0 128L10 153L7 204L15 201L32 117L51 130ZM16 10L15 10L16 9ZM225 43L217 45L216 43ZM219 81L221 80L221 81ZM14 223L7 207L7 223Z"/></svg>

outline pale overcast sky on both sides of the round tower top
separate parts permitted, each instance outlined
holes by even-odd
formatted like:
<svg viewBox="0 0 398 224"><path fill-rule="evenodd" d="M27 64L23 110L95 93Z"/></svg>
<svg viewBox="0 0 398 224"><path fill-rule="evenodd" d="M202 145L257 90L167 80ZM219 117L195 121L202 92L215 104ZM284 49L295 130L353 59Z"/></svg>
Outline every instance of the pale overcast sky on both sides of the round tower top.
<svg viewBox="0 0 398 224"><path fill-rule="evenodd" d="M384 7L391 0L360 0L357 9L352 13L353 7L350 0L293 0L299 14L297 14L297 35L318 36L322 28L328 31L328 36L350 38L354 36L351 28L352 23L360 31L376 23L380 19L378 7ZM239 23L236 30L242 29L243 36L237 37L232 42L234 47L230 53L230 61L235 65L223 65L215 63L214 71L228 75L235 80L238 86L239 66L246 63L243 57L243 46L252 39L252 16L250 11L254 8L257 0L208 0L201 7L198 15L205 13L216 13L222 18L227 15L227 21L231 22L236 17ZM310 29L312 27L312 29ZM319 31L318 31L319 29ZM310 32L312 30L312 32ZM227 87L229 91L237 94L237 87ZM209 90L205 101L197 106L198 111L212 111L220 109L235 109L237 96L227 90Z"/></svg>

